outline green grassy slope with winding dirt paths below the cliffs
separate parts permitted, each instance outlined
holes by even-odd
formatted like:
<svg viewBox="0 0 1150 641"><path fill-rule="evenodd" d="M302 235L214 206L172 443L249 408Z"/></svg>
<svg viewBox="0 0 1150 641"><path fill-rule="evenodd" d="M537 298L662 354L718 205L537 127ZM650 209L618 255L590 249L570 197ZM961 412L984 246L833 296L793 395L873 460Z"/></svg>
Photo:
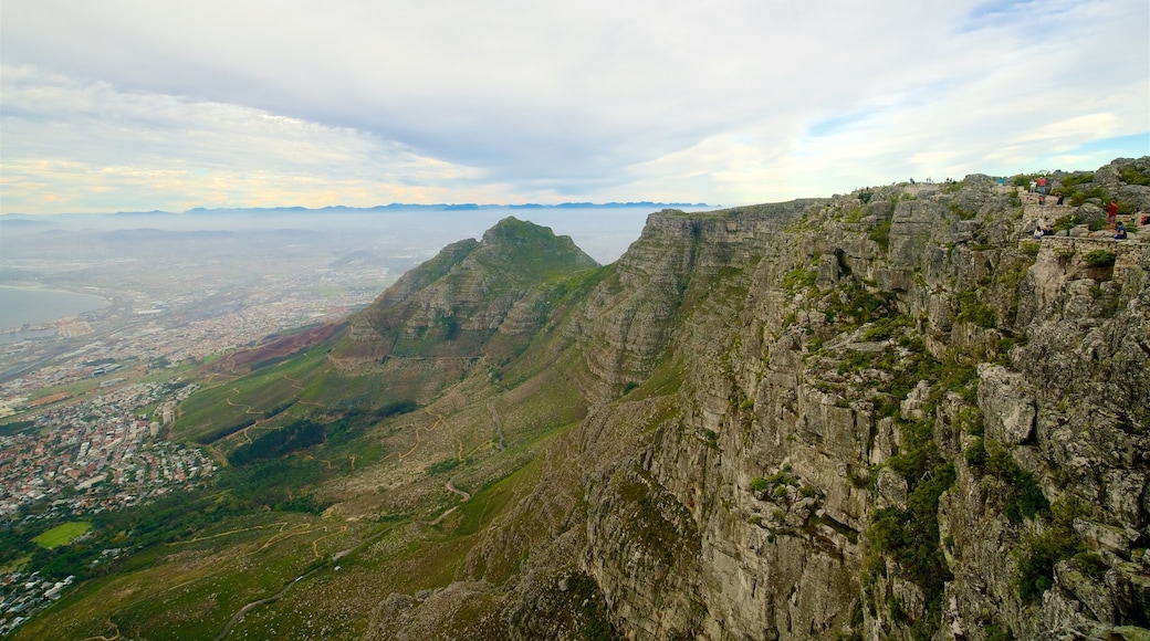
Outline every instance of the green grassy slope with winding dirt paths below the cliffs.
<svg viewBox="0 0 1150 641"><path fill-rule="evenodd" d="M558 302L562 307L577 298L568 292ZM543 448L585 412L567 369L552 366L555 357L570 356L562 345L559 332L540 337L504 369L474 368L420 411L374 423L346 442L269 462L266 473L252 478L260 487L253 494L266 500L275 495L268 501L273 504L301 494L335 502L324 515L263 509L176 532L178 540L146 548L112 574L86 582L25 624L16 638L110 635L109 620L126 636L214 638L244 604L276 594L316 566L282 598L247 613L231 634L362 633L388 594L444 587L459 578L481 532L513 496L539 482ZM199 392L184 404L174 433L199 438L229 422L261 418L247 412L291 400L304 403L251 431L309 411L338 414L330 403L348 397L365 404L389 399L378 376L339 374L324 350ZM503 449L496 447L497 417ZM232 441L241 438L243 432ZM447 492L448 479L471 500L461 503ZM243 492L225 494L217 501L245 500ZM438 525L428 525L452 507L457 509ZM331 561L339 550L353 551ZM499 582L514 570L486 572Z"/></svg>

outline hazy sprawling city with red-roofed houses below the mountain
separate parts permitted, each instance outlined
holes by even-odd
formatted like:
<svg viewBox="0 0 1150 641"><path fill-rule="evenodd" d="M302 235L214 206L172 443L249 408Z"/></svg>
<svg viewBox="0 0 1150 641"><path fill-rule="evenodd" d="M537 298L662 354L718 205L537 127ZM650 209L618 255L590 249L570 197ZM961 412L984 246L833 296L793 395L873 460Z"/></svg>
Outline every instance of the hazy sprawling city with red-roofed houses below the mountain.
<svg viewBox="0 0 1150 641"><path fill-rule="evenodd" d="M210 484L222 461L166 440L177 404L198 388L184 374L277 333L345 317L419 255L324 242L268 249L258 233L251 250L223 252L178 232L163 247L123 254L92 234L41 242L5 232L0 283L91 293L108 304L0 334L0 533L87 524ZM94 542L78 532L63 542ZM90 569L125 558L121 546L94 550ZM0 563L0 635L78 581L41 571L34 557Z"/></svg>

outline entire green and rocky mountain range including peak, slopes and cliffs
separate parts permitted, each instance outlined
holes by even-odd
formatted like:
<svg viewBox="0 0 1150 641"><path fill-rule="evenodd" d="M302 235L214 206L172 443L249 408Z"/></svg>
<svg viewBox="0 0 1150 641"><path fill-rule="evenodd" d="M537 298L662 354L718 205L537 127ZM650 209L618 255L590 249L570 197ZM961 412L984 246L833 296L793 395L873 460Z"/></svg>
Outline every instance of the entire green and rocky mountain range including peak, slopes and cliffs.
<svg viewBox="0 0 1150 641"><path fill-rule="evenodd" d="M189 399L327 441L20 634L1147 638L1150 231L1092 199L1150 159L1052 183L662 210L606 267L508 218Z"/></svg>

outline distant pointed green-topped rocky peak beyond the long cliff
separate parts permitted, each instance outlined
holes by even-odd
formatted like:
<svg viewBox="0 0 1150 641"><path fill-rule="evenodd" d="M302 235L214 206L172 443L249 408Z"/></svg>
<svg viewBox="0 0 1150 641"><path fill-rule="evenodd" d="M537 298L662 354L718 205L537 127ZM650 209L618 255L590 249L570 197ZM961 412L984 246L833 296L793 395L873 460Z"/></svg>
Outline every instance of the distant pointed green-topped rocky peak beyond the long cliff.
<svg viewBox="0 0 1150 641"><path fill-rule="evenodd" d="M428 401L480 358L518 355L553 312L566 277L596 267L569 237L506 218L478 241L448 245L353 316L334 362Z"/></svg>

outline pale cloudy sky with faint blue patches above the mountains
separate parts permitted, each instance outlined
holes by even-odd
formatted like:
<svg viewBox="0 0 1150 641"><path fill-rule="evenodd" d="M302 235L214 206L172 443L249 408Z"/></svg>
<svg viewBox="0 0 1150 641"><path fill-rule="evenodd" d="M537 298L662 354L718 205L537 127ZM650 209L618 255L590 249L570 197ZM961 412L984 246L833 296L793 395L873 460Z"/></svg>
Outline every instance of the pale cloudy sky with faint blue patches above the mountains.
<svg viewBox="0 0 1150 641"><path fill-rule="evenodd" d="M1150 154L1150 3L0 0L0 213L707 202Z"/></svg>

